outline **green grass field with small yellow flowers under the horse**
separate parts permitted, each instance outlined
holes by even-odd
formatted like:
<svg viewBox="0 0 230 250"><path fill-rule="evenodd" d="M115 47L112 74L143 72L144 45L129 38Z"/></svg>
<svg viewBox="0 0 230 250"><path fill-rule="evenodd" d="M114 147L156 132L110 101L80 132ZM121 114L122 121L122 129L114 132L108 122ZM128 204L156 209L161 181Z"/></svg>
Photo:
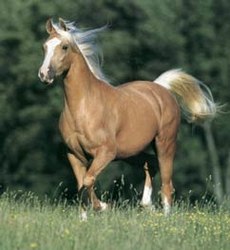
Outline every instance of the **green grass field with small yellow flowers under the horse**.
<svg viewBox="0 0 230 250"><path fill-rule="evenodd" d="M76 206L51 205L32 194L0 198L1 250L190 250L230 249L230 212L211 205L176 205L171 216L138 208L89 212L79 220Z"/></svg>

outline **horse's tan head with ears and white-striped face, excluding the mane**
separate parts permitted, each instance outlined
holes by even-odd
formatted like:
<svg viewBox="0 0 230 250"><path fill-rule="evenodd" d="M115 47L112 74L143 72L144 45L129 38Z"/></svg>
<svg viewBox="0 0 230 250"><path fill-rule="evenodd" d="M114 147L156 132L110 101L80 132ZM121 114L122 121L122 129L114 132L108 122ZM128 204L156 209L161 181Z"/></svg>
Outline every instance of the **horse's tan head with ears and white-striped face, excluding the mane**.
<svg viewBox="0 0 230 250"><path fill-rule="evenodd" d="M39 69L38 76L42 82L52 83L56 76L61 75L70 67L71 36L66 23L59 19L59 26L49 19L46 23L48 39L43 44L45 58Z"/></svg>

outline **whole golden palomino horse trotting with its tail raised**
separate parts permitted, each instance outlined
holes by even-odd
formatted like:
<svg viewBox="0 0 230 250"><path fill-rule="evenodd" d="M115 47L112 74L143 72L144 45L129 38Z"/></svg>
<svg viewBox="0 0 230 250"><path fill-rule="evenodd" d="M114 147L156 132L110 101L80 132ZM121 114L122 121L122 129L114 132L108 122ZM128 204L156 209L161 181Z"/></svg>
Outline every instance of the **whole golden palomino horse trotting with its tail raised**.
<svg viewBox="0 0 230 250"><path fill-rule="evenodd" d="M100 172L115 158L127 158L155 145L165 214L172 203L172 171L180 109L189 122L213 118L211 92L181 70L170 70L154 82L134 81L113 87L98 64L94 37L101 29L82 31L59 19L46 23L45 58L41 81L51 84L64 75L64 108L60 131L69 152L78 190L87 193L93 208L106 204L94 193ZM145 164L143 205L151 205L152 185ZM83 192L87 189L88 192ZM84 199L82 218L86 217Z"/></svg>

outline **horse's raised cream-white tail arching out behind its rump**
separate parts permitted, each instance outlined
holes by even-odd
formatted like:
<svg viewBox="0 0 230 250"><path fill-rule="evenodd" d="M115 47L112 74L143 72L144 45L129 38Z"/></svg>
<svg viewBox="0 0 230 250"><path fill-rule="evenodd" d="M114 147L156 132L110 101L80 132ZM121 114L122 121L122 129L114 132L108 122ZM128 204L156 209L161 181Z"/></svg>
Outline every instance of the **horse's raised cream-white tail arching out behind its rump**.
<svg viewBox="0 0 230 250"><path fill-rule="evenodd" d="M167 88L176 97L188 122L203 122L216 116L218 105L210 89L180 69L166 71L155 83Z"/></svg>

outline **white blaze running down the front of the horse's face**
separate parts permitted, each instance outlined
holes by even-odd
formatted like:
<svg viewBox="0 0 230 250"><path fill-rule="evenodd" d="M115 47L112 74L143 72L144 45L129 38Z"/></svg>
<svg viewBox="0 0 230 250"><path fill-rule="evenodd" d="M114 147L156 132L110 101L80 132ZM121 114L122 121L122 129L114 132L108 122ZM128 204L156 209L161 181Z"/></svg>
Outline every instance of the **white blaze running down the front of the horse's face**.
<svg viewBox="0 0 230 250"><path fill-rule="evenodd" d="M50 61L53 57L54 50L55 50L56 46L59 45L60 43L61 43L61 40L56 38L56 37L54 37L46 42L47 51L46 51L46 55L45 55L45 59L43 61L43 64L40 68L40 73L42 73L44 76L47 76L47 74L48 74L49 65L50 65Z"/></svg>

